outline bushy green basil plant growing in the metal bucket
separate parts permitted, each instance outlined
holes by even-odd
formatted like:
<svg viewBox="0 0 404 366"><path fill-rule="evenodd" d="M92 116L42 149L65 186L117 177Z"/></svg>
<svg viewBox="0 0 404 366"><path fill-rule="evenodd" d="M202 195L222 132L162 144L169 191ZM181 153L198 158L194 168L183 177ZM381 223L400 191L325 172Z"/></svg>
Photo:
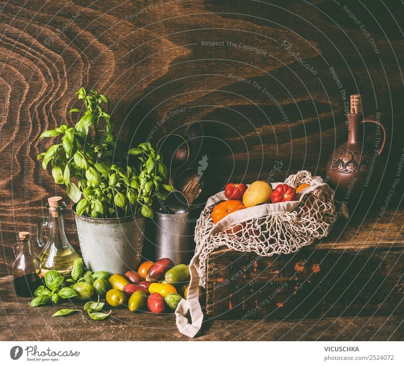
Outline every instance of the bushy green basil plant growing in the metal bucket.
<svg viewBox="0 0 404 366"><path fill-rule="evenodd" d="M37 160L42 160L43 169L51 163L55 182L66 185L78 215L109 218L141 212L153 217L153 200L165 200L174 190L167 184L162 157L150 143L129 150L117 143L111 116L103 108L110 104L106 96L96 90L87 93L84 87L76 95L84 103L84 114L74 127L62 124L44 131L40 139L58 136L58 144Z"/></svg>

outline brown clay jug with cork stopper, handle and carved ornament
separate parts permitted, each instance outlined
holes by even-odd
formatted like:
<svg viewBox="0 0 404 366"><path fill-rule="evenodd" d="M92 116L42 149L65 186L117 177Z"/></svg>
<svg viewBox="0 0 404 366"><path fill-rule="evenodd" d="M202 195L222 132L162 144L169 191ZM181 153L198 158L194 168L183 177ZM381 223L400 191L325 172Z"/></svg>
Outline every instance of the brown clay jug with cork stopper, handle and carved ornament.
<svg viewBox="0 0 404 366"><path fill-rule="evenodd" d="M327 182L335 189L336 199L351 206L366 189L380 182L383 159L380 154L386 142L383 125L374 120L362 120L361 96L350 96L348 118L348 141L335 149L327 163ZM364 123L376 123L376 140L369 145L363 135ZM380 137L380 132L383 138ZM372 185L371 185L372 182Z"/></svg>

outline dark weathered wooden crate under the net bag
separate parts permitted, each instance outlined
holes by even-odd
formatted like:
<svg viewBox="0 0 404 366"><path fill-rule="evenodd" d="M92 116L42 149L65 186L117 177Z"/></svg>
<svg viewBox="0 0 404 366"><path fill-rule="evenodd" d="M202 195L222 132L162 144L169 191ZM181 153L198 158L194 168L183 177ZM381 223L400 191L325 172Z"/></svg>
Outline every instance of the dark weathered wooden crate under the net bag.
<svg viewBox="0 0 404 366"><path fill-rule="evenodd" d="M213 252L207 264L208 316L403 313L402 214L394 222L370 217L359 231L355 222L345 230L336 227L327 240L295 254L260 258L229 249Z"/></svg>

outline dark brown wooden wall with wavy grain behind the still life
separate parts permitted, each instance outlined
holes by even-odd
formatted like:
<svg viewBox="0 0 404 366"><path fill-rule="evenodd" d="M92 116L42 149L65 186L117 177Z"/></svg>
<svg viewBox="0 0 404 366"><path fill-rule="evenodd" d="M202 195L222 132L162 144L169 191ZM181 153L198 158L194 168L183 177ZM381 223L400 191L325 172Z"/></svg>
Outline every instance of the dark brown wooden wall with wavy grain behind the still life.
<svg viewBox="0 0 404 366"><path fill-rule="evenodd" d="M381 112L388 130L383 184L391 186L403 150L404 6L348 2L359 25L344 6L339 0L0 2L2 273L13 262L15 233L35 232L48 196L66 198L36 162L51 144L38 136L74 122L67 112L80 107L74 93L81 85L111 99L123 141L144 141L155 129L150 141L157 142L200 121L208 196L229 176L276 181L302 168L324 174L328 156L347 136L334 67L347 97L364 96L366 116ZM285 40L316 75L285 50ZM209 41L224 43L204 45ZM389 209L400 203L399 188ZM378 197L385 195L381 190ZM68 228L77 243L70 213Z"/></svg>

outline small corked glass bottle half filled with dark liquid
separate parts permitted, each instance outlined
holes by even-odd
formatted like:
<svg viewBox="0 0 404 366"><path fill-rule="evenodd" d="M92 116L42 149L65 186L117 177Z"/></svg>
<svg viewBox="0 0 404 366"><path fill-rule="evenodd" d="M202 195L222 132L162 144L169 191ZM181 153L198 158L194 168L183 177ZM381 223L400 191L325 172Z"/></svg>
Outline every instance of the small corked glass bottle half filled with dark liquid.
<svg viewBox="0 0 404 366"><path fill-rule="evenodd" d="M16 260L13 263L13 277L16 294L34 297L34 291L42 284L41 262L31 253L31 237L28 232L18 233L18 243L14 245Z"/></svg>

